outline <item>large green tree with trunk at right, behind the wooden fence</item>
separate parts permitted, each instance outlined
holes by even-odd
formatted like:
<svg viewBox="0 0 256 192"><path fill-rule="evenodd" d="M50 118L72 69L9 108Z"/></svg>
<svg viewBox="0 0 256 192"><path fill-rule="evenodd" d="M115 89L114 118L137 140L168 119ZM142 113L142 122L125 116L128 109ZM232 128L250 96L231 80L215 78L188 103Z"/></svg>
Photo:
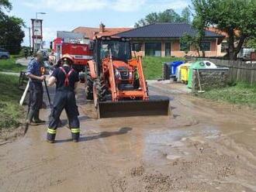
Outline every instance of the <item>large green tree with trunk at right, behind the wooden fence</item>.
<svg viewBox="0 0 256 192"><path fill-rule="evenodd" d="M201 29L216 26L227 33L230 60L236 60L244 42L256 36L255 0L192 0L192 6Z"/></svg>

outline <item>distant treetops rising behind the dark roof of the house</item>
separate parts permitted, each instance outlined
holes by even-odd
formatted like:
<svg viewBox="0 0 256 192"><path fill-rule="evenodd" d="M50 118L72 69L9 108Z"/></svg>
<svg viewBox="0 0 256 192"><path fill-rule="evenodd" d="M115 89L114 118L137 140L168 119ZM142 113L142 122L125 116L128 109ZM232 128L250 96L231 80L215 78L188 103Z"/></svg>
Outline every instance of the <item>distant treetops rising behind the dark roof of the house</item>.
<svg viewBox="0 0 256 192"><path fill-rule="evenodd" d="M156 22L190 22L189 8L182 11L182 15L178 15L173 9L166 9L164 12L151 12L144 19L140 19L135 23L135 27L147 26Z"/></svg>

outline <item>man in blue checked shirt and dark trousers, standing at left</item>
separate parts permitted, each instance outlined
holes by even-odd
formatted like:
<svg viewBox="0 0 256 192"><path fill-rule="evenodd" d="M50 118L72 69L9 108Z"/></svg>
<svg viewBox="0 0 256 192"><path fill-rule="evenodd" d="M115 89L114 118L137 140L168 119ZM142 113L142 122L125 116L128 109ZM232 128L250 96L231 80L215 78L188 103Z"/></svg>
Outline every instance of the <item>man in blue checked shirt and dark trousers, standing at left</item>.
<svg viewBox="0 0 256 192"><path fill-rule="evenodd" d="M42 81L45 76L42 75L43 54L36 53L36 56L30 60L26 75L29 77L29 113L27 124L34 122L36 124L44 123L45 121L39 118L40 108L43 105L43 85Z"/></svg>

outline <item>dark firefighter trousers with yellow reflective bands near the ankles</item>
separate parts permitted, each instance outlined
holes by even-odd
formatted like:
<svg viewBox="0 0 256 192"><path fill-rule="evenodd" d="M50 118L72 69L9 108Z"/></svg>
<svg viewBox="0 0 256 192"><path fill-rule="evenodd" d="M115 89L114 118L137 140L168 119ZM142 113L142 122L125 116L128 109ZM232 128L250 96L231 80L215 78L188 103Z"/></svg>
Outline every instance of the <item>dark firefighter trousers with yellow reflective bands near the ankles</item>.
<svg viewBox="0 0 256 192"><path fill-rule="evenodd" d="M65 109L69 128L71 129L72 139L79 139L80 122L78 119L78 106L74 91L68 89L59 89L56 91L54 97L54 108L50 114L50 123L47 130L47 139L54 140L57 132L57 126L61 116L61 112Z"/></svg>

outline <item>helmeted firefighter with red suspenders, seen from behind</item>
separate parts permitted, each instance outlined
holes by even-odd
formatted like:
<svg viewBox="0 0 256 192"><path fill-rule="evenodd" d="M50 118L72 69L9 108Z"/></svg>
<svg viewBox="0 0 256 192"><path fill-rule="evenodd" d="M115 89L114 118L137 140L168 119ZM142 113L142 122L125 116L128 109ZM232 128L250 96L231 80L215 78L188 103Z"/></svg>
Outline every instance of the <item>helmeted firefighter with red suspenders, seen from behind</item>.
<svg viewBox="0 0 256 192"><path fill-rule="evenodd" d="M78 106L76 105L75 90L78 86L78 72L71 65L73 58L69 54L61 57L62 66L54 70L48 81L48 85L56 84L54 108L51 111L50 123L47 129L47 142L54 142L61 112L65 109L69 128L74 142L78 142L80 134L80 122L78 120Z"/></svg>

